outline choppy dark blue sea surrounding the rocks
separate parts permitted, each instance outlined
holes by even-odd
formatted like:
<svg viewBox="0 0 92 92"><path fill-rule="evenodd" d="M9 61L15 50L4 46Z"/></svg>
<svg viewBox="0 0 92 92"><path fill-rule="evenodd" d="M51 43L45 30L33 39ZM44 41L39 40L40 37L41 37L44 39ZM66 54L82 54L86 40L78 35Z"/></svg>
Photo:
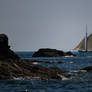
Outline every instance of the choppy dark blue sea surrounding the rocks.
<svg viewBox="0 0 92 92"><path fill-rule="evenodd" d="M45 67L57 67L71 74L71 79L39 80L15 79L0 80L0 92L92 92L92 72L78 72L78 70L92 65L92 52L73 52L76 57L39 57L33 58L34 52L16 52L21 59L49 62L57 64L39 64Z"/></svg>

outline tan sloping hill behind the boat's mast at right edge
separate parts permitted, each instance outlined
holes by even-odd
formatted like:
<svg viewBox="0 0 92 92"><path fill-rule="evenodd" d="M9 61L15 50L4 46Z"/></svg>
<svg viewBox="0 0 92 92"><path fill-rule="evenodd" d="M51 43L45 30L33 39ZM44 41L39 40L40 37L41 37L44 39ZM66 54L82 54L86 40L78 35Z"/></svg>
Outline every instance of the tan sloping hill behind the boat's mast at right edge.
<svg viewBox="0 0 92 92"><path fill-rule="evenodd" d="M92 51L92 34L87 37L86 48L87 51ZM74 48L74 50L85 51L85 38L78 44L76 48Z"/></svg>

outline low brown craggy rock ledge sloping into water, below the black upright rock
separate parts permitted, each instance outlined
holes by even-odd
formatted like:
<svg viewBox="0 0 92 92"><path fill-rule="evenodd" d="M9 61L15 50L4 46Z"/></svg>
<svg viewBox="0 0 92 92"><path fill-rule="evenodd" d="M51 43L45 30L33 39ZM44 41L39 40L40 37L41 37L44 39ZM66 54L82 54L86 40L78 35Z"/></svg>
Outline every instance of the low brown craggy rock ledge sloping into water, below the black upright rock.
<svg viewBox="0 0 92 92"><path fill-rule="evenodd" d="M13 59L0 60L0 79L17 78L63 80L71 78L71 76L59 68L33 65L31 61Z"/></svg>

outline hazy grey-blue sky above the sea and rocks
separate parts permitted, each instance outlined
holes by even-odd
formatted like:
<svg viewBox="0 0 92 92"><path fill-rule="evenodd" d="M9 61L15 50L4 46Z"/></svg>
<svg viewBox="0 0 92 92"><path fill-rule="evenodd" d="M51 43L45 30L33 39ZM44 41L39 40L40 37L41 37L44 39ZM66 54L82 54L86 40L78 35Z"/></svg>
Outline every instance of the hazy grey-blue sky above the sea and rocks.
<svg viewBox="0 0 92 92"><path fill-rule="evenodd" d="M92 0L0 0L0 34L14 51L71 50L92 33Z"/></svg>

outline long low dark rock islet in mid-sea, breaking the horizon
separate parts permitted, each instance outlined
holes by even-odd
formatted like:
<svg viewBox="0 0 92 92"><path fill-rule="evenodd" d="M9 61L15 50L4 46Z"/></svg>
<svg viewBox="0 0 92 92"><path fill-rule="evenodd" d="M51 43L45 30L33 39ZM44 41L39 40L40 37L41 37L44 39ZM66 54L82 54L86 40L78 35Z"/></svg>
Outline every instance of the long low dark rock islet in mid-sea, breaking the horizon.
<svg viewBox="0 0 92 92"><path fill-rule="evenodd" d="M56 49L39 49L32 57L62 57L62 56L76 56L72 52L63 52Z"/></svg>

